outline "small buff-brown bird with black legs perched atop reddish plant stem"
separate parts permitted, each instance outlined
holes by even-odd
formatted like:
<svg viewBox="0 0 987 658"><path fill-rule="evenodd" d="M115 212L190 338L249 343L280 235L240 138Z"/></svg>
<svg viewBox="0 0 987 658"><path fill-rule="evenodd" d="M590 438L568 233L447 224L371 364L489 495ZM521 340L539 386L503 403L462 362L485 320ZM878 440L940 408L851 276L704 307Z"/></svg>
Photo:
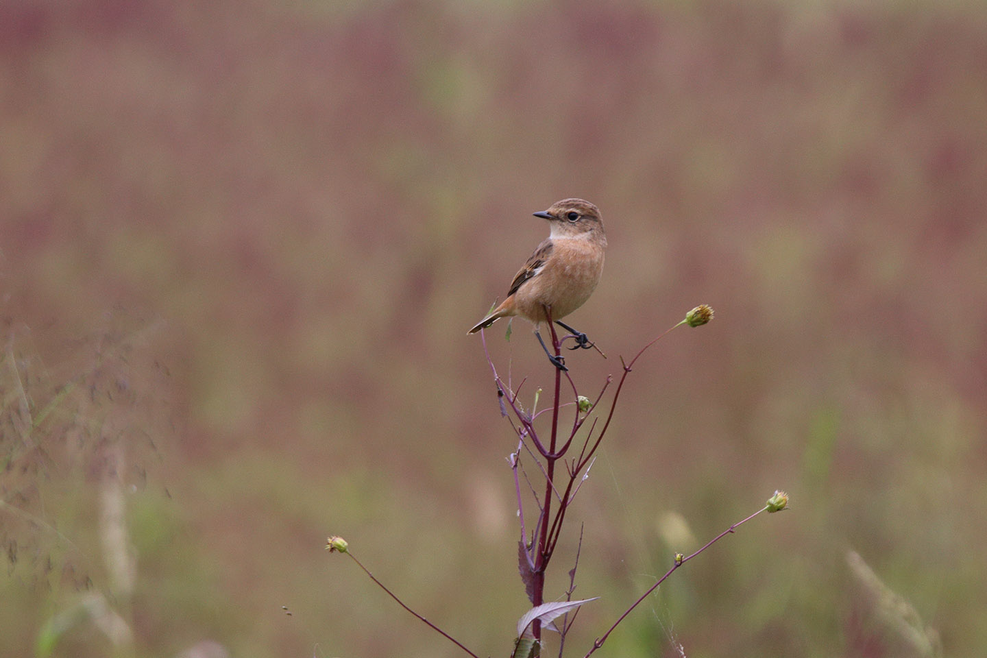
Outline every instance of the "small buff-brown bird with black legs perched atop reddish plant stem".
<svg viewBox="0 0 987 658"><path fill-rule="evenodd" d="M549 237L514 276L507 298L469 332L486 329L499 318L522 316L535 324L535 335L549 360L567 370L545 346L538 328L551 315L553 322L572 332L576 347L592 347L585 333L559 321L582 306L599 283L607 236L600 209L589 201L563 199L534 214L549 220Z"/></svg>

